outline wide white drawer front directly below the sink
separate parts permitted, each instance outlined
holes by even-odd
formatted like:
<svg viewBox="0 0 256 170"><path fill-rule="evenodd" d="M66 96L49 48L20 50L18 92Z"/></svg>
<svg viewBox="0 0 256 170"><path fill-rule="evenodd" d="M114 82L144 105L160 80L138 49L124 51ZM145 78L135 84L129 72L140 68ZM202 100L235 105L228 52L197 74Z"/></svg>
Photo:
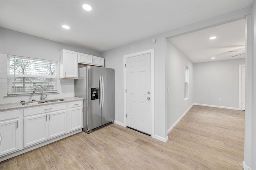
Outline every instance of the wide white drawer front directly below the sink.
<svg viewBox="0 0 256 170"><path fill-rule="evenodd" d="M41 106L41 107L32 107L28 109L24 109L24 116L29 116L29 115L35 115L39 113L47 113L50 111L56 111L56 110L62 110L66 109L67 104L55 104L55 105L46 105L46 106Z"/></svg>

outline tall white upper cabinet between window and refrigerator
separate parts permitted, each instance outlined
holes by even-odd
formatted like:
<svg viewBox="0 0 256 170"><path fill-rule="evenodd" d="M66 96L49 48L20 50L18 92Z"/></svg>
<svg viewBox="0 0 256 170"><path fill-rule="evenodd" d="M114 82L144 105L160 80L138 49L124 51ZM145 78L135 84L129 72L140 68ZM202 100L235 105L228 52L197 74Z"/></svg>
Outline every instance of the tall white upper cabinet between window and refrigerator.
<svg viewBox="0 0 256 170"><path fill-rule="evenodd" d="M60 51L60 78L78 78L77 56L75 51Z"/></svg>

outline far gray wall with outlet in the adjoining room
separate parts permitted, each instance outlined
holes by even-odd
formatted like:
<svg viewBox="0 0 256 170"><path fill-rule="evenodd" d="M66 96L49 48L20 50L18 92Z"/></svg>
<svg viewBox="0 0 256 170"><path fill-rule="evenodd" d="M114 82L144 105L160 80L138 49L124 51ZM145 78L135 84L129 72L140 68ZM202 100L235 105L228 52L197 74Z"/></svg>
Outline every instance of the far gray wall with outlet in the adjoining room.
<svg viewBox="0 0 256 170"><path fill-rule="evenodd" d="M245 59L194 63L194 103L239 108L240 64Z"/></svg>

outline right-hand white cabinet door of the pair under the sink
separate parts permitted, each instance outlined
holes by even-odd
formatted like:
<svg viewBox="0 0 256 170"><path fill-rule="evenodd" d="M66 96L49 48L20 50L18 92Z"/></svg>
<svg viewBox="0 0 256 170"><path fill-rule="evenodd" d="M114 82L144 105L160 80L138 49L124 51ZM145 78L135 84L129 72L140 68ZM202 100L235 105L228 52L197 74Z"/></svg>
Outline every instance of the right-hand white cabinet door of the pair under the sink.
<svg viewBox="0 0 256 170"><path fill-rule="evenodd" d="M49 133L48 138L53 138L59 135L63 135L67 132L66 128L66 110L62 111L55 111L49 113L49 121L48 121L48 127L49 127Z"/></svg>

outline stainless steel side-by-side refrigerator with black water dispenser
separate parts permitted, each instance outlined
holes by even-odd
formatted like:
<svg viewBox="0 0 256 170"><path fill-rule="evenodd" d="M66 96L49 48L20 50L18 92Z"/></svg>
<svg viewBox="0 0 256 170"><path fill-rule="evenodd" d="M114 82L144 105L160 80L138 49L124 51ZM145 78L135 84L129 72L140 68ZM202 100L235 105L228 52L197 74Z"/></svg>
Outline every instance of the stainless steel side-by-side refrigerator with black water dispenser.
<svg viewBox="0 0 256 170"><path fill-rule="evenodd" d="M84 128L86 133L114 123L114 69L86 66L78 68L74 80L75 96L84 98Z"/></svg>

